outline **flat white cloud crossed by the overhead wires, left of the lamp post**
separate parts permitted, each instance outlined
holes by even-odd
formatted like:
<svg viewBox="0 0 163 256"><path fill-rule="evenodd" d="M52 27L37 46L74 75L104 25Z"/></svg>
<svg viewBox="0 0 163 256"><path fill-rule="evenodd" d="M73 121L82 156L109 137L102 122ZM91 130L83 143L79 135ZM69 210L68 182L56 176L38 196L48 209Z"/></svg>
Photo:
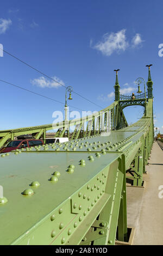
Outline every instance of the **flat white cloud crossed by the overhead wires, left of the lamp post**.
<svg viewBox="0 0 163 256"><path fill-rule="evenodd" d="M65 85L65 83L58 77L53 76L52 77L55 81L50 81L47 78L45 78L44 76L41 76L39 78L34 78L33 80L30 80L30 82L33 84L33 86L38 86L38 87L48 87L48 88L58 88L60 87L62 84L63 86ZM58 83L57 83L58 82ZM60 84L59 84L60 83Z"/></svg>

